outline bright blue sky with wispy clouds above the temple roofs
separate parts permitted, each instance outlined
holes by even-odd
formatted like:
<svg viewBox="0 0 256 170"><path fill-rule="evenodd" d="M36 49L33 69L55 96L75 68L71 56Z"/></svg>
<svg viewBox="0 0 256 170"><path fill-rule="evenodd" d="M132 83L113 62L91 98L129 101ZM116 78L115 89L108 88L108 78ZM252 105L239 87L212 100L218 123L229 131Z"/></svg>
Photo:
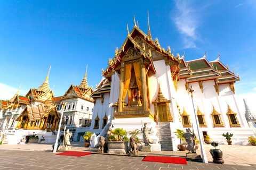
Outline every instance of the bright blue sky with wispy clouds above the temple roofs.
<svg viewBox="0 0 256 170"><path fill-rule="evenodd" d="M50 65L50 88L62 96L87 69L95 88L135 20L185 60L220 60L239 73L238 96L255 100L256 1L1 1L0 98L38 88ZM248 101L249 103L251 101ZM252 106L254 107L254 106Z"/></svg>

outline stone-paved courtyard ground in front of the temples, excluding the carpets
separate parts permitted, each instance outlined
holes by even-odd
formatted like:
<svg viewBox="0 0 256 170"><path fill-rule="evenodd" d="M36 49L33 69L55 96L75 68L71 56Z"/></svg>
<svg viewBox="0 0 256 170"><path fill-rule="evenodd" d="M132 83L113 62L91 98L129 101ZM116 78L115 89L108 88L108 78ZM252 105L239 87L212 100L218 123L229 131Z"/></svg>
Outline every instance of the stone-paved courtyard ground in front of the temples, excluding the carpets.
<svg viewBox="0 0 256 170"><path fill-rule="evenodd" d="M96 152L95 148L83 147L83 142L71 142L72 150ZM223 151L225 164L214 164L209 145L204 145L209 164L187 162L188 165L142 162L145 155L117 156L91 154L82 157L59 156L51 152L52 143L26 145L0 145L0 169L255 169L255 151L253 146L219 145ZM150 152L155 156L183 157L186 152ZM245 166L246 165L246 166Z"/></svg>

